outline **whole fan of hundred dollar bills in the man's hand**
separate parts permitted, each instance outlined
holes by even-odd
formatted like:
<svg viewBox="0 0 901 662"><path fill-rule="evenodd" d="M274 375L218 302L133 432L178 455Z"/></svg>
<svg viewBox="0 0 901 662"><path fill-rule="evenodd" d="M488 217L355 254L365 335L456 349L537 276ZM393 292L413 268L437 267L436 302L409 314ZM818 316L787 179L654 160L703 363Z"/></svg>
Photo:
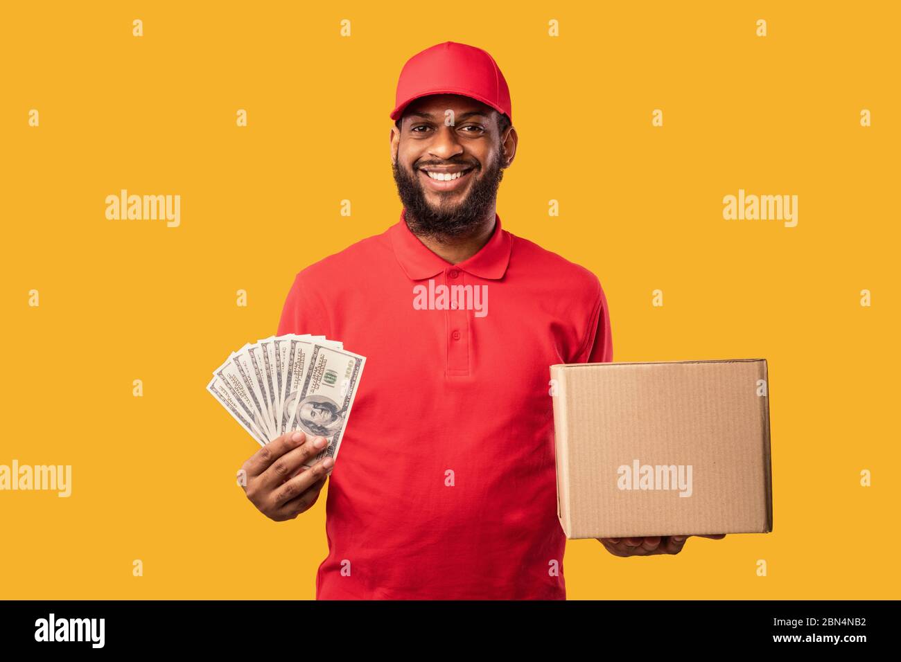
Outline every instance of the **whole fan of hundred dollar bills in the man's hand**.
<svg viewBox="0 0 901 662"><path fill-rule="evenodd" d="M365 363L325 336L270 336L232 352L206 390L261 446L287 431L324 437L312 467L337 458Z"/></svg>

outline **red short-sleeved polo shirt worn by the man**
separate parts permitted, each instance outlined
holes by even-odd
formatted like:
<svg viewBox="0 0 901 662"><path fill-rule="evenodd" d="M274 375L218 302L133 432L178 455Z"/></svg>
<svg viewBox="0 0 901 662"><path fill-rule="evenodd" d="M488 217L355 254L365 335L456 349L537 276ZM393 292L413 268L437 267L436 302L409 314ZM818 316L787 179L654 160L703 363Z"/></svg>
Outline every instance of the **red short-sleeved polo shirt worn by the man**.
<svg viewBox="0 0 901 662"><path fill-rule="evenodd" d="M438 286L453 285L483 296L441 309ZM594 274L499 216L451 265L401 213L297 274L284 333L366 357L327 487L317 599L566 597L549 367L613 359Z"/></svg>

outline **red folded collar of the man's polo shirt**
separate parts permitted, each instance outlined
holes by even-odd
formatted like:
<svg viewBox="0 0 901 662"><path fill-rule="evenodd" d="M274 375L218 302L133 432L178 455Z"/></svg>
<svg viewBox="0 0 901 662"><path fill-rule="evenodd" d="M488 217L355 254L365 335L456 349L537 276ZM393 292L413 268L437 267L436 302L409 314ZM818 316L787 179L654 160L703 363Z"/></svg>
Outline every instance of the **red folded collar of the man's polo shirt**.
<svg viewBox="0 0 901 662"><path fill-rule="evenodd" d="M405 216L406 210L402 210L400 221L392 225L388 233L397 261L411 280L431 278L451 266L479 278L497 280L504 277L507 264L510 262L510 247L513 240L510 232L501 227L501 217L497 213L491 239L479 249L478 253L456 265L451 265L444 258L432 253L432 250L407 227Z"/></svg>

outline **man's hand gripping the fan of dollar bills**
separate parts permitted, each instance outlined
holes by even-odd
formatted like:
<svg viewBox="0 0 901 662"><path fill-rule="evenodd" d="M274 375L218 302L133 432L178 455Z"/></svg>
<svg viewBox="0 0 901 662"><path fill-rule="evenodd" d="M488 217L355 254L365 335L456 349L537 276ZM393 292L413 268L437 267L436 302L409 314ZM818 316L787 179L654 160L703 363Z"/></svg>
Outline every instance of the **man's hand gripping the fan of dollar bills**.
<svg viewBox="0 0 901 662"><path fill-rule="evenodd" d="M254 453L241 469L244 492L270 520L293 520L319 498L327 472L334 464L323 458L306 469L304 463L325 448L323 437L307 437L303 431L286 432Z"/></svg>

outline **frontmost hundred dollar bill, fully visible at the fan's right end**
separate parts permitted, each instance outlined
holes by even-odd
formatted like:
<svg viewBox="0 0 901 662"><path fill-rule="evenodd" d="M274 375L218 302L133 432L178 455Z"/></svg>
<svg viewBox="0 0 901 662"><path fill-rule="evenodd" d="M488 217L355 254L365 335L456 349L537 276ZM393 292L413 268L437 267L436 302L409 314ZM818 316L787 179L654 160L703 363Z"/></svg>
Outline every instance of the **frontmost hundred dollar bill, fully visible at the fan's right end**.
<svg viewBox="0 0 901 662"><path fill-rule="evenodd" d="M365 357L345 349L314 344L289 429L325 437L328 445L305 467L313 467L325 456L337 461L365 363Z"/></svg>

